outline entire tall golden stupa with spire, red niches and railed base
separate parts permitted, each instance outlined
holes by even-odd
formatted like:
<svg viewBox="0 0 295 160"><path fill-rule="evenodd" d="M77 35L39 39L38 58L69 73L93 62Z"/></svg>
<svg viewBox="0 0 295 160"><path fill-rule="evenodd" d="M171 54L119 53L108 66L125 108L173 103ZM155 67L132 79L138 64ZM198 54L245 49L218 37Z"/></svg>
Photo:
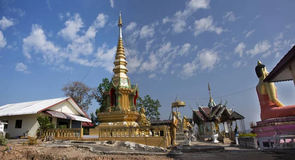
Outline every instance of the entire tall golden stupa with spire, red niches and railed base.
<svg viewBox="0 0 295 160"><path fill-rule="evenodd" d="M97 114L101 123L89 130L89 135L98 135L99 140L131 141L151 146L167 147L169 145L166 125L151 126L145 115L145 108L137 109L139 96L138 85L131 85L127 76L127 61L122 39L122 20L119 14L118 46L115 56L114 76L111 87L103 90L107 108ZM167 137L167 138L166 138Z"/></svg>

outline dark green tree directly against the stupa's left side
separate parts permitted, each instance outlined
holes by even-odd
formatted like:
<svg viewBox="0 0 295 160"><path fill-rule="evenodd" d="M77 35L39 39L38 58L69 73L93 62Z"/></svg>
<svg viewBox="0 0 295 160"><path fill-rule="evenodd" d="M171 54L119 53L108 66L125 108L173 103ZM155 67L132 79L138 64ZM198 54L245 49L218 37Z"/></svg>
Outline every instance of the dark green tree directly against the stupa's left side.
<svg viewBox="0 0 295 160"><path fill-rule="evenodd" d="M98 102L100 107L98 111L97 110L95 111L96 115L99 112L105 111L105 109L107 108L107 102L106 102L107 97L104 94L104 91L109 90L111 86L112 86L112 82L107 78L102 79L102 82L98 85L96 94L95 94L95 99L96 99L96 102Z"/></svg>

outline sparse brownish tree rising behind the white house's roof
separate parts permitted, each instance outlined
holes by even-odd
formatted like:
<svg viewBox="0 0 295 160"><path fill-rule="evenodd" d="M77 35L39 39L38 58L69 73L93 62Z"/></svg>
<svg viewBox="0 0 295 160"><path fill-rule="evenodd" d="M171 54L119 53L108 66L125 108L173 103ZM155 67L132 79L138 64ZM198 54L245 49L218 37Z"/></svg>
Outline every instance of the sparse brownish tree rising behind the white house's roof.
<svg viewBox="0 0 295 160"><path fill-rule="evenodd" d="M87 112L91 106L91 100L95 97L95 88L89 87L80 81L70 81L61 89L65 96L72 97L77 104Z"/></svg>

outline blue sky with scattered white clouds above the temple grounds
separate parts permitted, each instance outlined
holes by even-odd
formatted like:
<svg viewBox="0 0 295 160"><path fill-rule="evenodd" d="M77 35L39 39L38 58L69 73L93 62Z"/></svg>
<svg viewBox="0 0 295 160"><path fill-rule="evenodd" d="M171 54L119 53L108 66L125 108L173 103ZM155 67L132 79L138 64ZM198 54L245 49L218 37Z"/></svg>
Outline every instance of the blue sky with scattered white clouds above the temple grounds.
<svg viewBox="0 0 295 160"><path fill-rule="evenodd" d="M83 82L97 87L111 79L120 10L128 76L141 97L159 99L162 119L169 118L176 95L187 104L181 115L192 116L189 105L197 109L196 100L188 99L207 106L207 81L213 97L255 87L257 60L270 72L295 44L293 0L3 0L0 5L0 106L62 97L62 84L82 80L109 43ZM276 86L279 100L294 105L293 82ZM255 89L225 99L246 117L246 129L260 120ZM89 113L98 107L93 102Z"/></svg>

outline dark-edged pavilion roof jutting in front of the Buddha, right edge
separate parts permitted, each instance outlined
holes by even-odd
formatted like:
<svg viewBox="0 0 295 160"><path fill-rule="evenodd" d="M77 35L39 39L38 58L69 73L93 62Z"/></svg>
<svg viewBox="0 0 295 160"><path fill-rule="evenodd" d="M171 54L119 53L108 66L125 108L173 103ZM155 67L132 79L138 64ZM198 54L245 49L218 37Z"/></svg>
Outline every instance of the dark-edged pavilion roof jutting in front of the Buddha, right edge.
<svg viewBox="0 0 295 160"><path fill-rule="evenodd" d="M295 46L279 61L279 63L272 69L272 71L265 78L265 82L277 82L293 80L292 75L288 69L292 66L295 70ZM294 72L294 71L293 71Z"/></svg>

